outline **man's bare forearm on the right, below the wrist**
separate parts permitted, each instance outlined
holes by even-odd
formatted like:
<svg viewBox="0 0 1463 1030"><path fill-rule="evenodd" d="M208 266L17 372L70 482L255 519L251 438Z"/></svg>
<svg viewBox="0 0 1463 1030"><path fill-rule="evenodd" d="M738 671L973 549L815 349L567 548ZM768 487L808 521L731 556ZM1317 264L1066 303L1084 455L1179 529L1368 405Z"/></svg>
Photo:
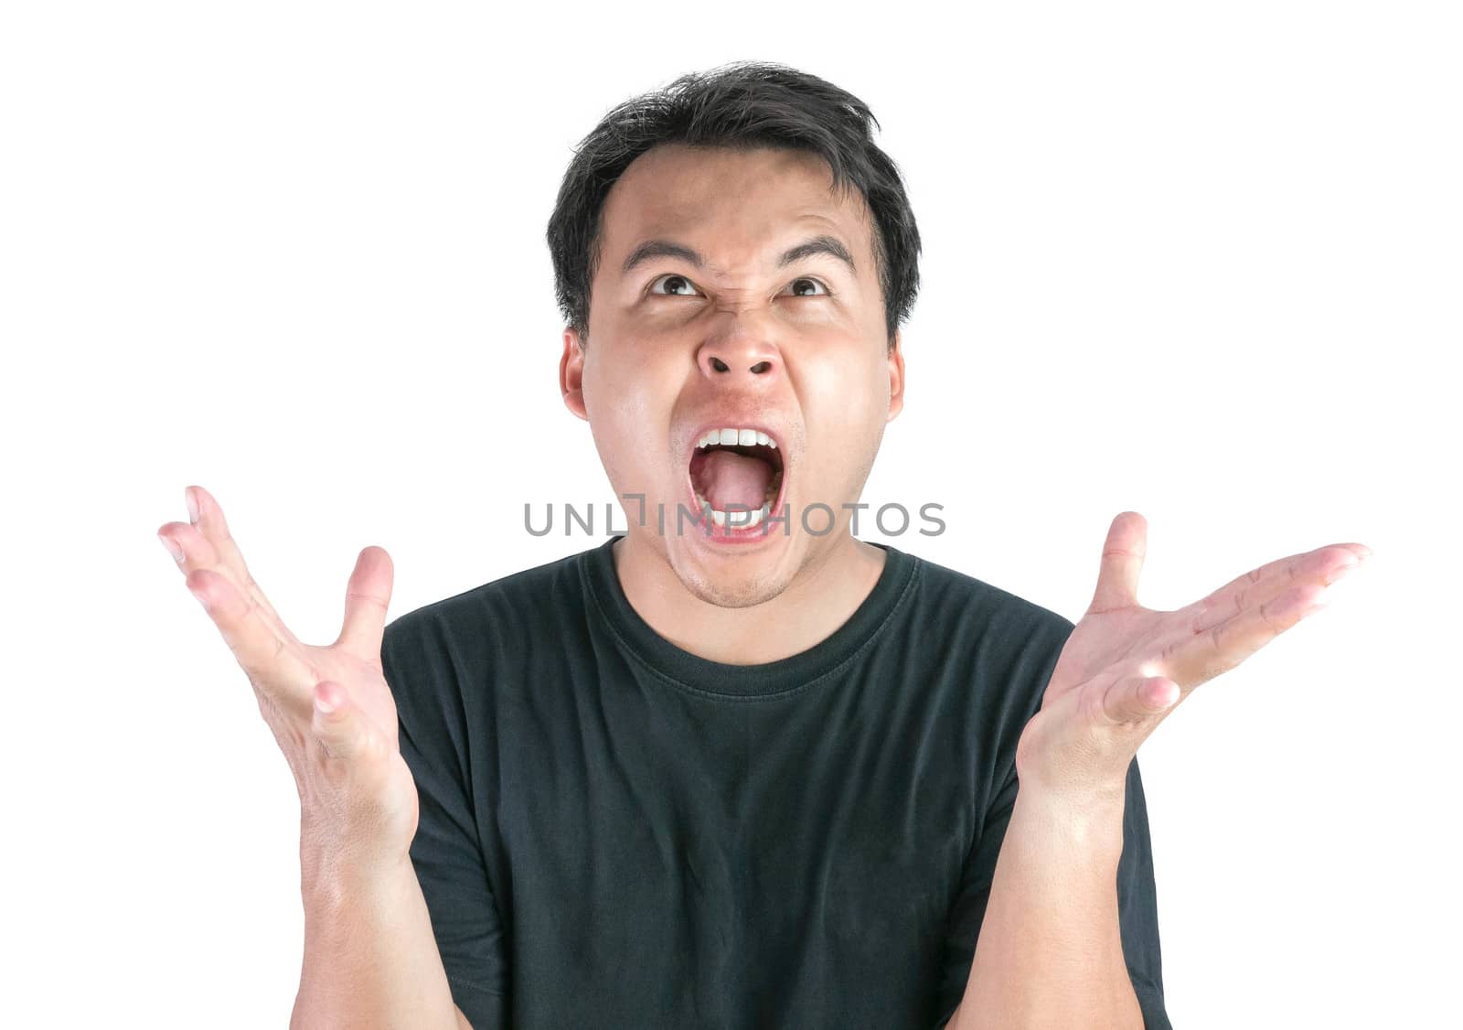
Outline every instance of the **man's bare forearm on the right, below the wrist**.
<svg viewBox="0 0 1463 1030"><path fill-rule="evenodd" d="M1141 1030L1122 957L1122 793L1017 793L951 1030Z"/></svg>

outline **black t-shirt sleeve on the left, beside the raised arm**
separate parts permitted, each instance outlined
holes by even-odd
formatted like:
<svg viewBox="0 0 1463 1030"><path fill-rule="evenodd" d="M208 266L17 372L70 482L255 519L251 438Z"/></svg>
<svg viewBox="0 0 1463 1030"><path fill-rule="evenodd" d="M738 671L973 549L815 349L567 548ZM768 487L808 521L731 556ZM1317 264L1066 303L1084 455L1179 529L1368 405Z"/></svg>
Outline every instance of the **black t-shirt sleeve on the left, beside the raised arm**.
<svg viewBox="0 0 1463 1030"><path fill-rule="evenodd" d="M399 623L401 620L398 620ZM452 999L473 1030L508 1026L508 957L497 903L477 837L461 695L430 641L386 628L382 669L396 701L401 756L417 783L420 816L411 863L432 916Z"/></svg>

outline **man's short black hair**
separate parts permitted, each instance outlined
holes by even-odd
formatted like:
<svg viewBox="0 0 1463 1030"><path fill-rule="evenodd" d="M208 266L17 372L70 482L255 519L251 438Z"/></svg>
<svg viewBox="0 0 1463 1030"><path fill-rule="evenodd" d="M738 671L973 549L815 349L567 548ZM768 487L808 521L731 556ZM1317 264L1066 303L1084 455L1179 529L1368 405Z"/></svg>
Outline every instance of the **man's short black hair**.
<svg viewBox="0 0 1463 1030"><path fill-rule="evenodd" d="M660 143L730 149L796 149L821 155L832 189L854 187L873 217L873 260L888 344L919 293L919 228L898 165L875 143L881 127L853 94L770 61L733 61L691 72L609 111L575 146L549 218L559 309L590 332L590 284L603 250L604 198L625 168Z"/></svg>

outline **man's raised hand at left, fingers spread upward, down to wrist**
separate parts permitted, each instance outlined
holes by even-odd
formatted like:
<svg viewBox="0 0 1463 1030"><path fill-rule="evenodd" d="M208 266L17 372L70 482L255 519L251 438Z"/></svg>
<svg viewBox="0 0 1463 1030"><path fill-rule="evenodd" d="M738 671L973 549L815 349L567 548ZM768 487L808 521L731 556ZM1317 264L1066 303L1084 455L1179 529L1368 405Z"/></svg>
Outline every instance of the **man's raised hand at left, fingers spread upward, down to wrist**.
<svg viewBox="0 0 1463 1030"><path fill-rule="evenodd" d="M158 537L208 610L259 701L300 790L304 849L360 868L407 860L417 789L401 758L396 702L382 674L391 556L366 547L345 588L345 622L328 647L301 644L244 565L218 502L184 490L189 522Z"/></svg>

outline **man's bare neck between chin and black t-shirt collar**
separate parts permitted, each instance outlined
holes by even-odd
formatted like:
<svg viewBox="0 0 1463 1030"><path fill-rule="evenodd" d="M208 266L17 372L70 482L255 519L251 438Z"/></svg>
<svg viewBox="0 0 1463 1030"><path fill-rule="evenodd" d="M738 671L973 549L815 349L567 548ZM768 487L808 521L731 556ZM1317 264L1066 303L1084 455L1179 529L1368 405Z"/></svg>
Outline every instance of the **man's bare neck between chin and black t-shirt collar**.
<svg viewBox="0 0 1463 1030"><path fill-rule="evenodd" d="M626 600L651 629L683 651L733 666L778 661L831 636L868 598L887 559L844 531L775 597L721 607L686 590L664 555L636 534L616 541L612 553Z"/></svg>

